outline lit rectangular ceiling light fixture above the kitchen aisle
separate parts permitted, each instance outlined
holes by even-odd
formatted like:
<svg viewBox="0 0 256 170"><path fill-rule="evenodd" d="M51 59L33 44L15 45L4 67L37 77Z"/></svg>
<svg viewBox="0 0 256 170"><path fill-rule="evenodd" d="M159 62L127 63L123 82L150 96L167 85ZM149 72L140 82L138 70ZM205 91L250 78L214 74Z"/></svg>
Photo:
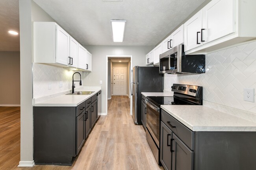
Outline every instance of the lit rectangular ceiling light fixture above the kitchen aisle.
<svg viewBox="0 0 256 170"><path fill-rule="evenodd" d="M114 42L123 42L126 20L110 20Z"/></svg>

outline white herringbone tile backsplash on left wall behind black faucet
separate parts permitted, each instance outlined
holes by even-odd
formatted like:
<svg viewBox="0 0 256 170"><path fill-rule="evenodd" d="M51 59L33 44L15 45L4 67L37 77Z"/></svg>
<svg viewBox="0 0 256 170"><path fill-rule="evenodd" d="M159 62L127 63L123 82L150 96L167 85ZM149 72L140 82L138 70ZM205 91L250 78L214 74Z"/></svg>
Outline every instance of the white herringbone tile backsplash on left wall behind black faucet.
<svg viewBox="0 0 256 170"><path fill-rule="evenodd" d="M72 75L75 72L80 72L82 75L81 71L33 63L33 98L71 90ZM74 79L80 79L80 76L76 74L74 75ZM63 86L61 88L59 87L59 82L63 82ZM51 84L51 90L48 90L49 83ZM79 87L79 82L76 82L76 87Z"/></svg>

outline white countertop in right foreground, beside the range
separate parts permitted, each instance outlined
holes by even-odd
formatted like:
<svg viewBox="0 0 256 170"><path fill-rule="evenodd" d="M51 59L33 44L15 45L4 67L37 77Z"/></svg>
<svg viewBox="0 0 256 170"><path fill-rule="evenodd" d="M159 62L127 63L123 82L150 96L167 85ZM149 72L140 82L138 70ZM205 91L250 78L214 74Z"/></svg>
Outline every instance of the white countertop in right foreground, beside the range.
<svg viewBox="0 0 256 170"><path fill-rule="evenodd" d="M206 106L161 105L161 108L192 131L256 132L256 122Z"/></svg>

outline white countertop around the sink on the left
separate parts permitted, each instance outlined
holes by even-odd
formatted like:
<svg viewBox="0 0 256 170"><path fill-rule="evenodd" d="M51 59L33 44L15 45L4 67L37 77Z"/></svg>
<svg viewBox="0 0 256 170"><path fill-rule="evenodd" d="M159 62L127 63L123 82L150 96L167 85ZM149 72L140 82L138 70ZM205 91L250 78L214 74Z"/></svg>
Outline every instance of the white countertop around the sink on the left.
<svg viewBox="0 0 256 170"><path fill-rule="evenodd" d="M84 88L75 91L95 91L91 95L60 95L42 102L35 102L34 106L78 106L101 90L97 88Z"/></svg>

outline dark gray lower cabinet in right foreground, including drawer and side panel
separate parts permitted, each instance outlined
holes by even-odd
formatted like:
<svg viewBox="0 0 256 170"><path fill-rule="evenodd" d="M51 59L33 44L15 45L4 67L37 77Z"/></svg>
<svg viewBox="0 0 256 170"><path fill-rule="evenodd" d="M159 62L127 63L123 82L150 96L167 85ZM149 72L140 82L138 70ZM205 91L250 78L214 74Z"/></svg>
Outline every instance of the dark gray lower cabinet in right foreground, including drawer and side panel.
<svg viewBox="0 0 256 170"><path fill-rule="evenodd" d="M256 170L256 132L193 132L161 110L165 170Z"/></svg>

